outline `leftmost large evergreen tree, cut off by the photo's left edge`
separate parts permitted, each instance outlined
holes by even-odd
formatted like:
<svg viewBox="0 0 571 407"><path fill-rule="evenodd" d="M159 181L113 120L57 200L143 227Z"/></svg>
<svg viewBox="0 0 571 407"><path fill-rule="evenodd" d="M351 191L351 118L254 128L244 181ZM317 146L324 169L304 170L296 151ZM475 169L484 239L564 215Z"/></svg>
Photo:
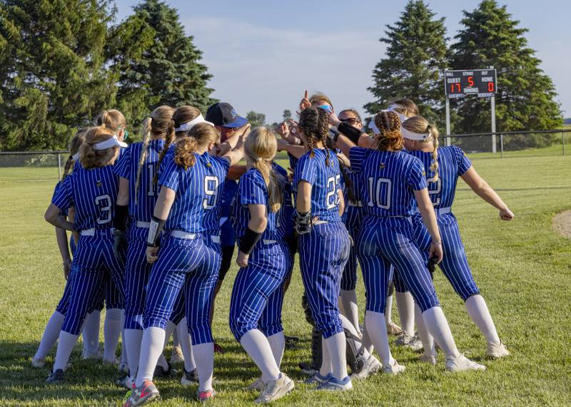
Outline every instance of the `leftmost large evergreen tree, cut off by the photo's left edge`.
<svg viewBox="0 0 571 407"><path fill-rule="evenodd" d="M103 48L109 1L0 2L0 149L66 148L113 103Z"/></svg>

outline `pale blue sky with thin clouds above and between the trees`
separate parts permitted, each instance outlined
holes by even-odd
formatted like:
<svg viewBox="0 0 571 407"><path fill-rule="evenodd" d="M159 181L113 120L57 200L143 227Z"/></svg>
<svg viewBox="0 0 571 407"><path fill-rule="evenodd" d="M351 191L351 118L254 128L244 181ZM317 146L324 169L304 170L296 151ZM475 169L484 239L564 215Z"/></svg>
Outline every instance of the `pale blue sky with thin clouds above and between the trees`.
<svg viewBox="0 0 571 407"><path fill-rule="evenodd" d="M505 0L512 17L529 29L529 46L551 76L565 115L571 115L571 1ZM118 20L131 13L136 0L116 0ZM232 103L238 113L265 113L281 120L295 110L303 91L322 91L336 110L358 108L372 100L375 63L383 57L386 24L399 19L405 0L182 1L178 9L186 33L203 51L213 74L214 96ZM459 28L463 10L479 0L433 0L430 8L445 17L448 36ZM466 67L480 68L480 67ZM501 83L500 83L501 86Z"/></svg>

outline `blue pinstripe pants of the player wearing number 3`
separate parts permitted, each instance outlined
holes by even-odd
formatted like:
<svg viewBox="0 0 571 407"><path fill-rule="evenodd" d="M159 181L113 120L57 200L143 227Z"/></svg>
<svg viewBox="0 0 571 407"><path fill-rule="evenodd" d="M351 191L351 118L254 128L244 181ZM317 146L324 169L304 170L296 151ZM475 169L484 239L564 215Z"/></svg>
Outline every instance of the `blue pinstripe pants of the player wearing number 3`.
<svg viewBox="0 0 571 407"><path fill-rule="evenodd" d="M113 254L111 230L98 230L93 237L81 236L72 263L71 273L74 275L71 277L69 306L61 330L79 335L85 316L106 278L113 279L118 287L121 301L117 308L123 308L123 269L124 265Z"/></svg>

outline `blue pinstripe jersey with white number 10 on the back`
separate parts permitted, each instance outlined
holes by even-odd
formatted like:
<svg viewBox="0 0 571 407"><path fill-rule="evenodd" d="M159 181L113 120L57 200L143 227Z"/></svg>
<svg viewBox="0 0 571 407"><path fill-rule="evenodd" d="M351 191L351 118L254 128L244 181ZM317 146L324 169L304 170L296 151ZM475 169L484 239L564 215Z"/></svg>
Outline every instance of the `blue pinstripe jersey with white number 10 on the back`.
<svg viewBox="0 0 571 407"><path fill-rule="evenodd" d="M423 164L403 151L380 151L353 147L351 168L360 174L359 196L363 212L377 217L412 215L413 190L423 190L426 178Z"/></svg>

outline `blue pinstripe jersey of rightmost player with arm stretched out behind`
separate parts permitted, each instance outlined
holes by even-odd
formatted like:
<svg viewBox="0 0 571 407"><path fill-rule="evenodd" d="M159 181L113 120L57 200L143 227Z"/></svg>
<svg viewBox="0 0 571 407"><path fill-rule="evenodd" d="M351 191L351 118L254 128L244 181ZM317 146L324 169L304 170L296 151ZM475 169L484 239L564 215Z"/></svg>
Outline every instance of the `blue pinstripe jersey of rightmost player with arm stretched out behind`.
<svg viewBox="0 0 571 407"><path fill-rule="evenodd" d="M432 153L424 151L408 151L424 165L428 181L428 194L434 207L451 207L456 194L458 177L472 166L463 150L455 145L438 148L438 181L434 180L434 171L430 169L433 163Z"/></svg>

